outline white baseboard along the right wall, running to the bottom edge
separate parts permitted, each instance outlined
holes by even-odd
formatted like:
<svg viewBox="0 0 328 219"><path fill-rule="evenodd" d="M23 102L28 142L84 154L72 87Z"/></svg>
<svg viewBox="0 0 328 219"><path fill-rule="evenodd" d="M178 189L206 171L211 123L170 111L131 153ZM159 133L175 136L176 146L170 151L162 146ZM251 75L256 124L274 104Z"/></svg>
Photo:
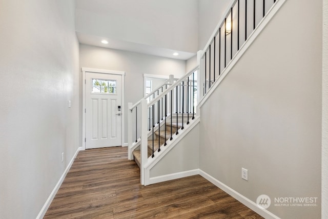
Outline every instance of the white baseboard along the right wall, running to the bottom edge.
<svg viewBox="0 0 328 219"><path fill-rule="evenodd" d="M208 174L208 173L206 173L202 170L199 170L199 175L206 178L208 181L213 183L215 186L217 186L218 188L220 188L223 191L227 192L229 195L236 198L236 200L238 200L239 202L241 202L245 206L249 207L250 209L252 209L256 213L258 213L262 217L280 219L280 217L276 216L275 214L271 213L270 211L268 211L266 209L259 208L255 202L251 201L249 198L247 198L247 197L243 196L242 194L238 193L237 191L233 190L232 188L230 188L226 184L223 184L220 181L216 180L216 178L214 178L210 174Z"/></svg>

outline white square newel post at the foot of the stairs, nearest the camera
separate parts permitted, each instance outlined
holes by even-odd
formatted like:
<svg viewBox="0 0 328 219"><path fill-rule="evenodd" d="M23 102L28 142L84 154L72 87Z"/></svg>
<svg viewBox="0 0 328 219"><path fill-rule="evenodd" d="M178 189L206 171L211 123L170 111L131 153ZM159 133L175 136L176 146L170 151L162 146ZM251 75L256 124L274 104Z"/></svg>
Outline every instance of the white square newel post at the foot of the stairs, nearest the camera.
<svg viewBox="0 0 328 219"><path fill-rule="evenodd" d="M145 185L145 165L148 160L148 102L147 99L141 101L141 147L140 147L140 174L141 185Z"/></svg>

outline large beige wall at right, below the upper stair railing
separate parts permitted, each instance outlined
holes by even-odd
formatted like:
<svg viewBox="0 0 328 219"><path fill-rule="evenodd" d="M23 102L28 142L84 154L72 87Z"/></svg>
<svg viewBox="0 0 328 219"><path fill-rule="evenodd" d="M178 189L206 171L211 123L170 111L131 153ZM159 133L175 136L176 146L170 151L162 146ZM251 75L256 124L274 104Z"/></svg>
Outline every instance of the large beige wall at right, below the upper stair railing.
<svg viewBox="0 0 328 219"><path fill-rule="evenodd" d="M320 218L321 28L322 1L286 1L201 107L200 169L253 202L269 195L281 218Z"/></svg>

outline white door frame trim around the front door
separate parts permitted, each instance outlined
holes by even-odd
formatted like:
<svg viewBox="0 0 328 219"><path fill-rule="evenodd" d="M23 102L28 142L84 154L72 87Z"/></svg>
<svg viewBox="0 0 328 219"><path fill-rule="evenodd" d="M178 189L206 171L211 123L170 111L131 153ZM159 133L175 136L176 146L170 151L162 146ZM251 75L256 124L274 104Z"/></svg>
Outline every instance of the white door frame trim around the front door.
<svg viewBox="0 0 328 219"><path fill-rule="evenodd" d="M92 73L103 73L103 74L116 74L122 76L122 103L121 103L121 144L125 146L124 136L125 136L125 72L124 71L114 71L114 70L106 70L106 69L96 69L96 68L81 68L82 72L82 150L86 150L86 74L87 72Z"/></svg>

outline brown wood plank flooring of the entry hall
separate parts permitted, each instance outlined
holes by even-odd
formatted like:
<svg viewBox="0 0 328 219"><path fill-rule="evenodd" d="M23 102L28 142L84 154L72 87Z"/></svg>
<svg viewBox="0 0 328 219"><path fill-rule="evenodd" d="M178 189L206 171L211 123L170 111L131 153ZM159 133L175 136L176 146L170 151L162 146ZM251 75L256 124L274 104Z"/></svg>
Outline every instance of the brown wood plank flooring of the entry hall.
<svg viewBox="0 0 328 219"><path fill-rule="evenodd" d="M127 147L80 151L44 218L263 218L196 175L150 186Z"/></svg>

